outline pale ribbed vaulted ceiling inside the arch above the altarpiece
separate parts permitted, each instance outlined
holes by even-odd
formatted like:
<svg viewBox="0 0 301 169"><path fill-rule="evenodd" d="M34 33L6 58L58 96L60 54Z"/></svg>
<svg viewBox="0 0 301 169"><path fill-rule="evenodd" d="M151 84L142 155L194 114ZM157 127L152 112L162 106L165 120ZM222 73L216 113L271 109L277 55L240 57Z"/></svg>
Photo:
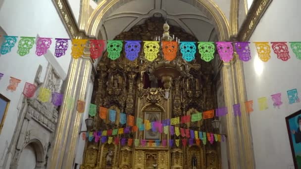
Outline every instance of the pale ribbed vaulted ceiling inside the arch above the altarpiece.
<svg viewBox="0 0 301 169"><path fill-rule="evenodd" d="M133 0L117 8L104 19L101 34L107 40L144 23L147 18L162 16L170 26L177 26L199 41L217 39L213 25L198 8L180 0Z"/></svg>

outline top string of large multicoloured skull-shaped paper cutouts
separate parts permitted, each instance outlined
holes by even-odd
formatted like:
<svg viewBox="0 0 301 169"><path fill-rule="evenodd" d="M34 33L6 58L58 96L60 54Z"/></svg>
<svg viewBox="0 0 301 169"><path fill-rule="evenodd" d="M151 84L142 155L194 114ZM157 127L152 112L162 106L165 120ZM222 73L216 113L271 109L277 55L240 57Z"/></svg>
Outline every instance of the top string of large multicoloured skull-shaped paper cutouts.
<svg viewBox="0 0 301 169"><path fill-rule="evenodd" d="M3 36L4 42L1 44L1 54L4 55L11 51L15 46L18 37ZM36 41L35 41L36 39ZM69 47L70 39L55 38L54 55L61 57L65 55ZM108 58L111 60L118 59L121 52L124 51L127 59L134 61L143 51L144 56L148 61L153 61L157 58L160 49L164 54L164 58L172 61L176 58L177 53L181 52L182 58L188 62L195 59L197 49L201 54L201 59L209 62L214 58L215 50L224 62L229 62L233 59L234 51L239 55L242 61L249 61L251 59L250 42L167 42L162 41L120 41L120 40L77 40L72 39L71 56L74 59L80 58L84 54L84 48L87 43L90 44L91 58L97 59L102 54L104 47L107 46ZM271 48L277 55L278 59L287 61L291 58L289 54L288 42L253 42L258 57L267 62L271 58ZM289 42L290 46L298 59L301 59L301 42ZM20 56L25 56L30 53L30 50L36 44L35 53L42 56L47 53L47 50L52 44L51 38L34 38L34 37L20 37L18 42L17 53ZM142 48L143 46L143 48Z"/></svg>

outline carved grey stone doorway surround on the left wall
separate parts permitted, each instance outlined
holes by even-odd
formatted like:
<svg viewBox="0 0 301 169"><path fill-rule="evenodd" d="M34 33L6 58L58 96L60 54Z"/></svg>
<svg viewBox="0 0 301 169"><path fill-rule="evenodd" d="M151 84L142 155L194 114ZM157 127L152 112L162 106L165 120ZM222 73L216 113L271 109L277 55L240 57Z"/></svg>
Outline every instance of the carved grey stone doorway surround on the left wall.
<svg viewBox="0 0 301 169"><path fill-rule="evenodd" d="M33 144L37 154L36 169L47 166L48 150L52 141L52 134L58 117L57 107L51 103L42 103L38 99L40 87L47 87L51 91L60 92L62 80L49 64L45 81L40 81L42 66L39 66L35 77L37 90L32 98L24 98L14 137L10 144L12 161L10 169L17 169L21 151L28 144Z"/></svg>

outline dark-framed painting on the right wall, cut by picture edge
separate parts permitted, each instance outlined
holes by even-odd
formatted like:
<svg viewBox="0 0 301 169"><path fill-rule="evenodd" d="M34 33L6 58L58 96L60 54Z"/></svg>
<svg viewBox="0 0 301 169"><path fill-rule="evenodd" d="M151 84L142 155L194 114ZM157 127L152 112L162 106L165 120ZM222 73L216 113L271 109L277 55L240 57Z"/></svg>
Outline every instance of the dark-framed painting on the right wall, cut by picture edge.
<svg viewBox="0 0 301 169"><path fill-rule="evenodd" d="M301 169L301 110L285 118L295 169Z"/></svg>

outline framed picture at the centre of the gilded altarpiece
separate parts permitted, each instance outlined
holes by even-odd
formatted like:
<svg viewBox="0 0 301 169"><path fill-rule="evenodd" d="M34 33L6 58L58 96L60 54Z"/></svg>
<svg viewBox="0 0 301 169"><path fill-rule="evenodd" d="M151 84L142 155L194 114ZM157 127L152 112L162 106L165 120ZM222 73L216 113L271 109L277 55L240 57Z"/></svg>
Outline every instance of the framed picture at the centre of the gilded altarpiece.
<svg viewBox="0 0 301 169"><path fill-rule="evenodd" d="M144 119L151 122L161 122L161 112L160 111L145 111ZM145 130L144 139L156 140L160 139L161 134L158 131L153 132L151 129Z"/></svg>

